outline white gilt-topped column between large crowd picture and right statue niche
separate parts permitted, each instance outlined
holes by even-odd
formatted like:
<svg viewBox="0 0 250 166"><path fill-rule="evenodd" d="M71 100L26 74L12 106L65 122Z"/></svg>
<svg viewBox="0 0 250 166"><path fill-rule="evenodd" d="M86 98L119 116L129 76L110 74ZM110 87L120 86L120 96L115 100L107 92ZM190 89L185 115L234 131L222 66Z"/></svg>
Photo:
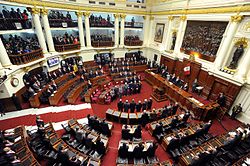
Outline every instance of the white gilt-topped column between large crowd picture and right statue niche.
<svg viewBox="0 0 250 166"><path fill-rule="evenodd" d="M239 27L239 23L243 19L243 16L236 15L231 16L231 21L227 27L227 33L224 35L223 43L221 43L220 48L217 52L216 59L215 59L215 69L220 69L224 62L228 60L228 57L225 56L228 53L229 47L232 43L236 30Z"/></svg>

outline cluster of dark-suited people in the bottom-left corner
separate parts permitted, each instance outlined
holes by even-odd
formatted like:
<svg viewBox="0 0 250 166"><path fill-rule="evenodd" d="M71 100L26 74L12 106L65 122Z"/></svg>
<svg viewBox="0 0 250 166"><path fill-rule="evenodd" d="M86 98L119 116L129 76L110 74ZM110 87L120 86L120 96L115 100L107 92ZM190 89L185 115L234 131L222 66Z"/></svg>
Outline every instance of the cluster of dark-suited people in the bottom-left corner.
<svg viewBox="0 0 250 166"><path fill-rule="evenodd" d="M0 131L0 165L21 165L21 160L14 150L15 139L13 131Z"/></svg>

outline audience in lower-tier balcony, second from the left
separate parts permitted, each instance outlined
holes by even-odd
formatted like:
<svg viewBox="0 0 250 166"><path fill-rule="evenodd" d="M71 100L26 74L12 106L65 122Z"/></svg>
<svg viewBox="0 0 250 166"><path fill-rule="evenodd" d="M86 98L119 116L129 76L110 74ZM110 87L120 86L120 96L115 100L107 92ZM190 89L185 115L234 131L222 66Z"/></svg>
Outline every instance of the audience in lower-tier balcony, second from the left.
<svg viewBox="0 0 250 166"><path fill-rule="evenodd" d="M63 35L54 35L53 41L55 45L79 44L79 37L65 32Z"/></svg>

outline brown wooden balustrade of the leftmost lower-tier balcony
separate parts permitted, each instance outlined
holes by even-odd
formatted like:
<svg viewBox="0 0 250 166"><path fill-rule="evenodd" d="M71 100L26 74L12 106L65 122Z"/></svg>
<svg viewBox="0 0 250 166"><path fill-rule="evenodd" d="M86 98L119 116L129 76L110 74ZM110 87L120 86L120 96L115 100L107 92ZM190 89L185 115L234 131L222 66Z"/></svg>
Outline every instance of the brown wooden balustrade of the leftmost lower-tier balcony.
<svg viewBox="0 0 250 166"><path fill-rule="evenodd" d="M13 65L22 65L43 58L42 49L19 55L9 55Z"/></svg>

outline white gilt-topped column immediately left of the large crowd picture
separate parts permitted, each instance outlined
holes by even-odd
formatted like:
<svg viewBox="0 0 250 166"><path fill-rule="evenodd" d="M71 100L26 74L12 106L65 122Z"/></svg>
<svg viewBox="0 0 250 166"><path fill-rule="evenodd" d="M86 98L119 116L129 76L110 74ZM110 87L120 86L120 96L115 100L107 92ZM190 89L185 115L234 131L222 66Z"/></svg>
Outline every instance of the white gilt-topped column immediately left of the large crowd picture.
<svg viewBox="0 0 250 166"><path fill-rule="evenodd" d="M176 43L174 47L174 53L178 55L180 53L180 48L183 40L183 35L186 29L186 24L187 24L187 16L181 16L180 17L180 25L178 28L177 32L177 37L176 37Z"/></svg>

